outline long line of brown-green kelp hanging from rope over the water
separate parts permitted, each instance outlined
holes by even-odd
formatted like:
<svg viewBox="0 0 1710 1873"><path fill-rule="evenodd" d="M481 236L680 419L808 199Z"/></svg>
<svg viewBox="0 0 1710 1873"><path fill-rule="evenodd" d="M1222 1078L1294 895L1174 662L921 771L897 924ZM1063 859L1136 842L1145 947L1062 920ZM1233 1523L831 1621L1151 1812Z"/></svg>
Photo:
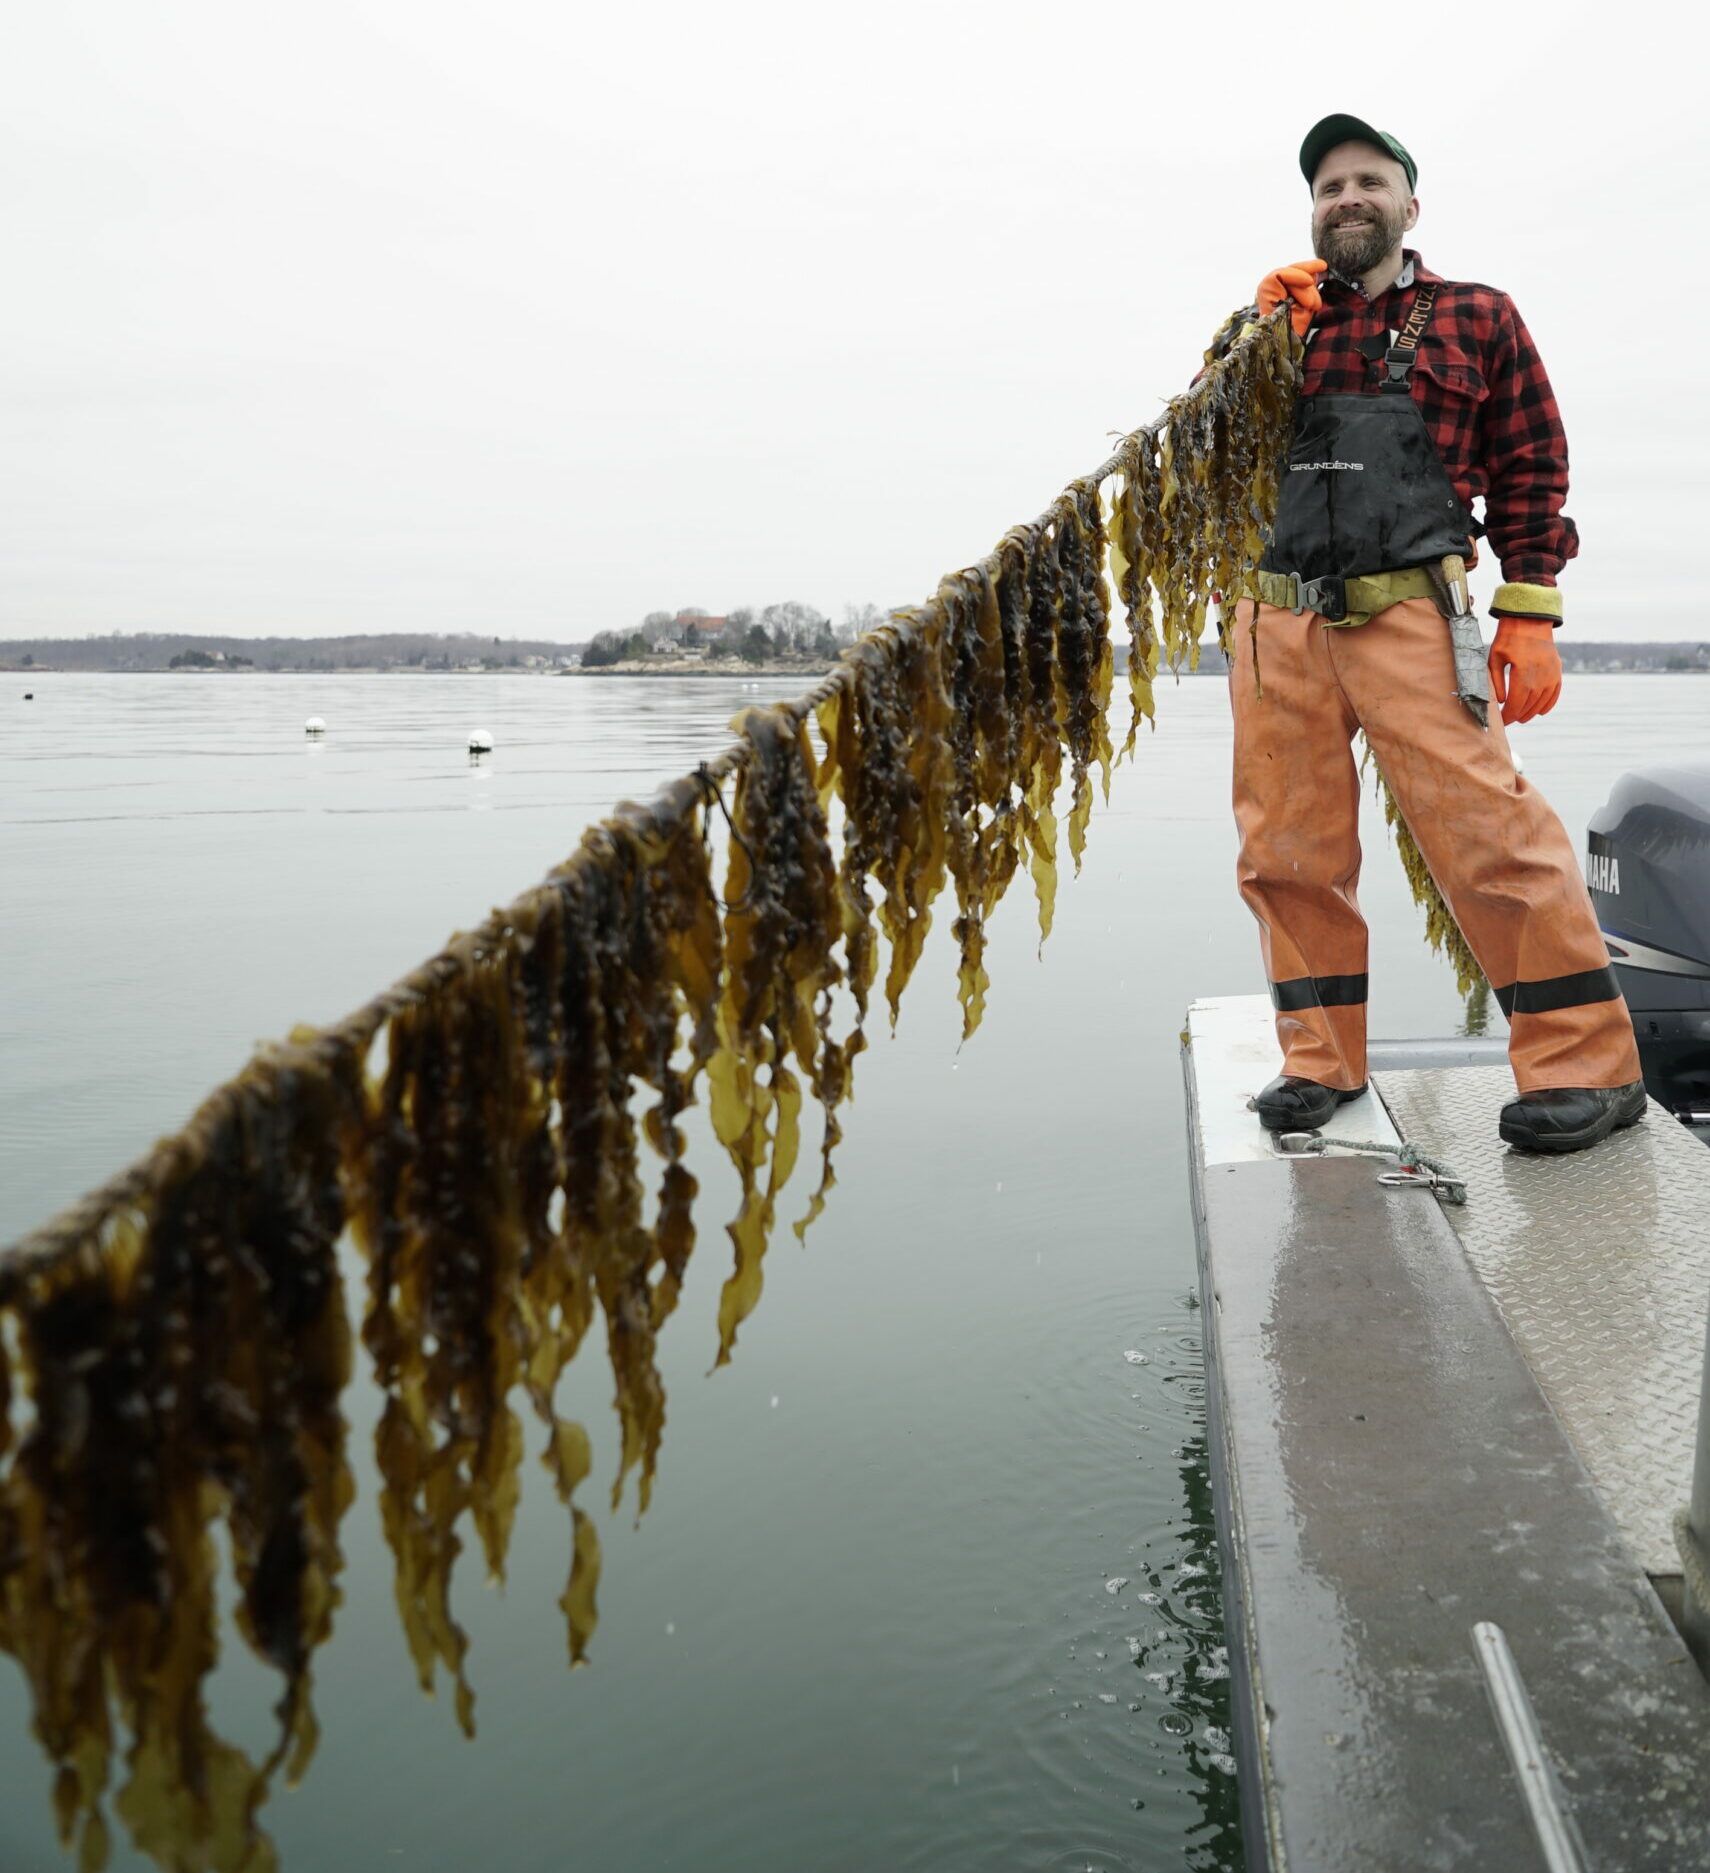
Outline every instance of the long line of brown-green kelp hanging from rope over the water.
<svg viewBox="0 0 1710 1873"><path fill-rule="evenodd" d="M697 1246L684 1111L706 1099L740 1180L723 1364L760 1296L809 1096L822 1146L798 1232L832 1189L878 938L895 1023L951 888L968 1038L987 923L1021 871L1049 935L1060 785L1079 865L1092 775L1109 785L1113 764L1105 553L1133 635L1131 747L1159 657L1197 656L1210 597L1257 558L1298 354L1285 318L1238 339L807 697L747 710L719 760L620 807L346 1021L262 1049L180 1133L0 1257L0 1652L28 1676L60 1830L86 1867L107 1854L120 1772L114 1807L163 1867L273 1866L257 1817L275 1772L300 1776L315 1748L309 1661L339 1603L352 1495L346 1227L421 1686L444 1671L474 1727L451 1579L464 1525L504 1573L517 1395L569 1510L560 1609L571 1661L586 1658L599 1543L577 1491L592 1450L554 1395L603 1320L612 1500L633 1472L646 1508L667 1410L657 1335ZM258 1766L206 1716L217 1528L240 1631L281 1678L279 1742Z"/></svg>

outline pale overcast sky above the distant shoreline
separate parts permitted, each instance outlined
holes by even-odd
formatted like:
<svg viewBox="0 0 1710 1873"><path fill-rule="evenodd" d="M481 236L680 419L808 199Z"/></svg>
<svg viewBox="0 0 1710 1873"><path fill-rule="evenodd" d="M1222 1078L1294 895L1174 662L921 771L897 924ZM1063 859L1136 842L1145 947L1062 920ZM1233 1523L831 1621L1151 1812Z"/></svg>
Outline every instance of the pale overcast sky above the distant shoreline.
<svg viewBox="0 0 1710 1873"><path fill-rule="evenodd" d="M1354 111L1540 343L1570 629L1710 637L1704 28L1573 19L13 7L0 635L916 601L1311 251L1300 137Z"/></svg>

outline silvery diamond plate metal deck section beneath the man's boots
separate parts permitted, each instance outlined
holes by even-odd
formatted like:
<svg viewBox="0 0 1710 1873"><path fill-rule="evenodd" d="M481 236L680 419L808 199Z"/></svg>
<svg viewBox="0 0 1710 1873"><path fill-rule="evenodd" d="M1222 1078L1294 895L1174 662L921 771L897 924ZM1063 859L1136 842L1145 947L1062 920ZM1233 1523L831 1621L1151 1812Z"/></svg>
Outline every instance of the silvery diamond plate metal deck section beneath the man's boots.
<svg viewBox="0 0 1710 1873"><path fill-rule="evenodd" d="M1496 1137L1508 1068L1375 1081L1401 1135L1467 1178L1467 1206L1444 1214L1633 1556L1678 1573L1669 1519L1691 1491L1710 1150L1652 1105L1594 1150L1534 1158Z"/></svg>

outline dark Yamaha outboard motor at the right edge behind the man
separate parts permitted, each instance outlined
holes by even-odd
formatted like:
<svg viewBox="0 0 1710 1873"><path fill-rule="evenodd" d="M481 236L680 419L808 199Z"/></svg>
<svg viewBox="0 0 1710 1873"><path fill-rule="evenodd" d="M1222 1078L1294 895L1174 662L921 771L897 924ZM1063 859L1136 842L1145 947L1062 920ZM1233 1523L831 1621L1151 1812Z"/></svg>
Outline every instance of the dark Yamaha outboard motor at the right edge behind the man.
<svg viewBox="0 0 1710 1873"><path fill-rule="evenodd" d="M1592 815L1585 873L1644 1086L1710 1126L1710 760L1624 774Z"/></svg>

